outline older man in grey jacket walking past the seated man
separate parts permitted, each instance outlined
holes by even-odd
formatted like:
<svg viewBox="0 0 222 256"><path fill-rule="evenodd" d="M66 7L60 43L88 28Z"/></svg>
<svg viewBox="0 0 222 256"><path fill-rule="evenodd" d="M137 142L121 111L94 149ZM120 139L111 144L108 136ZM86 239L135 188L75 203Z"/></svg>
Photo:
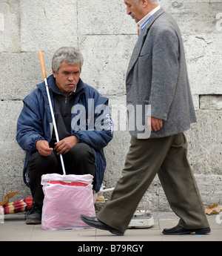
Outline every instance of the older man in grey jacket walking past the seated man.
<svg viewBox="0 0 222 256"><path fill-rule="evenodd" d="M164 234L210 232L195 178L186 158L184 131L196 122L178 25L155 0L124 0L138 24L138 41L127 70L127 105L151 105L149 138L130 131L122 177L90 226L123 235L155 175L161 181L178 226ZM142 113L145 114L144 112ZM136 116L137 117L137 116Z"/></svg>

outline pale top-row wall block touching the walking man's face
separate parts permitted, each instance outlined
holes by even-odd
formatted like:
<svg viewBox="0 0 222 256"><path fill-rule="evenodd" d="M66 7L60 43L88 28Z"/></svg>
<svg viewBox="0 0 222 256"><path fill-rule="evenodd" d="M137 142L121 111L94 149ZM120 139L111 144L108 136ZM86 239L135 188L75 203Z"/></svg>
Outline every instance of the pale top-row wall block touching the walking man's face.
<svg viewBox="0 0 222 256"><path fill-rule="evenodd" d="M80 35L137 34L137 25L124 1L89 0L78 1L78 30Z"/></svg>

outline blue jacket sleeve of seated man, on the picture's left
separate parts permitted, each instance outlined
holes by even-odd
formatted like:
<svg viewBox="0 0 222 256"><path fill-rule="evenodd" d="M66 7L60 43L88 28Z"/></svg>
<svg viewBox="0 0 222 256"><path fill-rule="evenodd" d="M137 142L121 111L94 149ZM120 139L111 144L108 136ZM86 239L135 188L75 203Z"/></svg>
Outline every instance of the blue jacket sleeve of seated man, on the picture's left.
<svg viewBox="0 0 222 256"><path fill-rule="evenodd" d="M24 99L24 107L17 122L16 140L24 151L36 151L36 142L45 140L38 105L30 96Z"/></svg>

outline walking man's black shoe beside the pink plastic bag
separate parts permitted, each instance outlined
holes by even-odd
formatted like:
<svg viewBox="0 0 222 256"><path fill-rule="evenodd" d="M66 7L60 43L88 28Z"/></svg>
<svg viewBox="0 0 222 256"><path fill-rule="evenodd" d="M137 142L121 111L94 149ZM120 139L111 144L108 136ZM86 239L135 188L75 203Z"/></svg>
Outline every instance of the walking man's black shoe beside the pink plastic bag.
<svg viewBox="0 0 222 256"><path fill-rule="evenodd" d="M81 220L84 221L84 223L87 223L88 225L93 226L96 229L107 230L112 234L116 234L116 235L124 235L124 232L118 231L117 229L113 229L111 226L108 226L107 224L102 223L100 220L98 220L97 217L87 217L87 216L81 215Z"/></svg>

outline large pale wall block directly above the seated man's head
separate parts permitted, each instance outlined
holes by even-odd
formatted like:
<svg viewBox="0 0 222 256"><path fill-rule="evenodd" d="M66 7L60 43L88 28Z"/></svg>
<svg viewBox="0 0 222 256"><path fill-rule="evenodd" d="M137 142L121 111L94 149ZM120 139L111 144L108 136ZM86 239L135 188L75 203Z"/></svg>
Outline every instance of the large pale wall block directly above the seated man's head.
<svg viewBox="0 0 222 256"><path fill-rule="evenodd" d="M21 0L20 4L22 51L78 44L76 0Z"/></svg>

